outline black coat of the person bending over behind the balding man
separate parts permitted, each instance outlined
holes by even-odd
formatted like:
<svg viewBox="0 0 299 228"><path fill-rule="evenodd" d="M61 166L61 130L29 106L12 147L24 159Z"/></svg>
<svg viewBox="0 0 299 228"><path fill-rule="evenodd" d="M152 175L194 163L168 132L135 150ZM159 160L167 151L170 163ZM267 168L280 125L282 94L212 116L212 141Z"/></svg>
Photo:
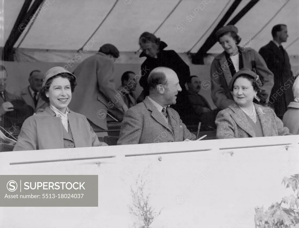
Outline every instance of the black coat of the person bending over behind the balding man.
<svg viewBox="0 0 299 228"><path fill-rule="evenodd" d="M156 67L168 67L174 70L178 75L182 90L186 90L184 85L190 77L189 66L174 50L164 50L165 47L167 47L167 44L161 41L159 47L160 50L157 54L158 58L148 57L144 52L142 52L139 56L140 58L147 57L147 59L141 64L142 77L139 81L139 84L141 87L143 87L144 91L148 91L147 78L151 70L155 69Z"/></svg>

